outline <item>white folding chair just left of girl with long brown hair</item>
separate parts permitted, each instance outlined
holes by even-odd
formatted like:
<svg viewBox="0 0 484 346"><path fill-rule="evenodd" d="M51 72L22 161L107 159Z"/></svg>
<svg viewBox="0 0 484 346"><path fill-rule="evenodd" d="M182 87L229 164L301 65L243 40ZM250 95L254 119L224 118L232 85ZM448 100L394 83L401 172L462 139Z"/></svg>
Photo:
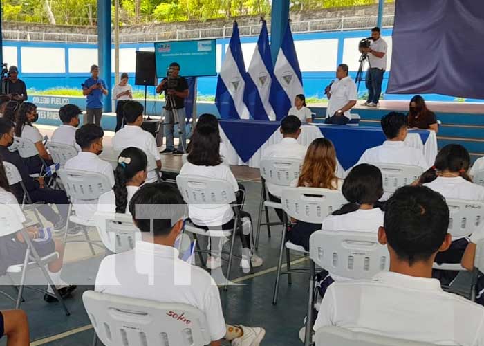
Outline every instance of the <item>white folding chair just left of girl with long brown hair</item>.
<svg viewBox="0 0 484 346"><path fill-rule="evenodd" d="M268 199L266 183L272 183L281 187L290 186L291 181L299 178L301 172L301 160L290 158L263 158L260 163L261 170L261 202L259 203L259 216L257 217L257 230L255 236L255 248L259 248L261 226L267 226L270 238L270 226L281 225L281 222L270 222L268 208L282 209L281 203L275 203ZM262 210L266 212L266 222L262 223Z"/></svg>

